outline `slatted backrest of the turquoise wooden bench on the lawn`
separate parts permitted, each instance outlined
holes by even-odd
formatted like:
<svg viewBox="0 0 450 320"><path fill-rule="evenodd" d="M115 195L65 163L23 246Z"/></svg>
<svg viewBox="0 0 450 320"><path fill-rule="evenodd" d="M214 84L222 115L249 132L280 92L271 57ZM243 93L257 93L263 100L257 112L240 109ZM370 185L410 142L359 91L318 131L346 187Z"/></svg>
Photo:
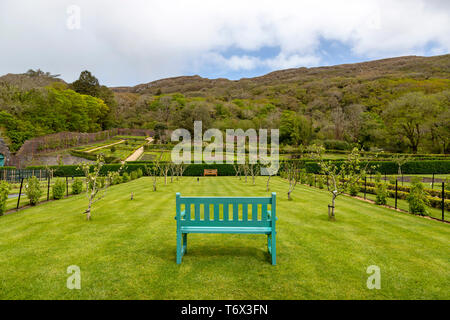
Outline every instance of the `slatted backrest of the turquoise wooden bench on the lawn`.
<svg viewBox="0 0 450 320"><path fill-rule="evenodd" d="M182 197L177 193L176 210L183 226L271 227L276 193L271 197Z"/></svg>

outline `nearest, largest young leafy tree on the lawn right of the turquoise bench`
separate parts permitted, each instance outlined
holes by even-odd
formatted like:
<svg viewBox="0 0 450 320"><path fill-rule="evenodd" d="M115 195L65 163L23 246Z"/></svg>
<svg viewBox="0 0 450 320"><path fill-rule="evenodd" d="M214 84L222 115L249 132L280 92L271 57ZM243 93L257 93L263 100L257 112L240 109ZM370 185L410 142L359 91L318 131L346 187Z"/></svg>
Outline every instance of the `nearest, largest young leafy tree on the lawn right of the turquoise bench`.
<svg viewBox="0 0 450 320"><path fill-rule="evenodd" d="M361 153L358 148L354 148L347 159L339 164L332 161L325 161L322 157L324 148L313 145L311 147L312 157L319 162L320 169L325 173L331 182L331 206L328 206L328 218L336 220L334 214L336 198L345 193L351 186L359 183L365 175L369 161L361 167ZM331 209L331 210L330 210Z"/></svg>

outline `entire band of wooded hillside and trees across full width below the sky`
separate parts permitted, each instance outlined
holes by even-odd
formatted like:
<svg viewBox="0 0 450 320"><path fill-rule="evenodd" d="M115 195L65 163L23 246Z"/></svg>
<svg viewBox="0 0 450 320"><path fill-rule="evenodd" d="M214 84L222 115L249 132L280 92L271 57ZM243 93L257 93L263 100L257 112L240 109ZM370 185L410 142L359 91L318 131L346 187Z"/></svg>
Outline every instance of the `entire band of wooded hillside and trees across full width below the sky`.
<svg viewBox="0 0 450 320"><path fill-rule="evenodd" d="M27 138L58 131L162 133L192 130L202 120L203 128L279 128L281 143L292 148L450 152L450 55L111 89L87 71L72 84L48 72L0 77L2 136L14 151Z"/></svg>

